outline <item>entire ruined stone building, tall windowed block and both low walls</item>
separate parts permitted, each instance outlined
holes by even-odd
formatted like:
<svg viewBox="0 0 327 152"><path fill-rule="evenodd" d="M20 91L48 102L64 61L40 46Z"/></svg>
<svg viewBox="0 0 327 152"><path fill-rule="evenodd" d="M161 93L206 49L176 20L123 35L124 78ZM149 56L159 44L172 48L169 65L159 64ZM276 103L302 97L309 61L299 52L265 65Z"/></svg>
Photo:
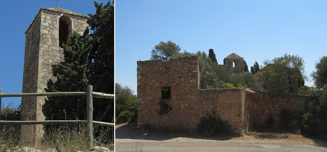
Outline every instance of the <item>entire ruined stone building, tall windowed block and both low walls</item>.
<svg viewBox="0 0 327 152"><path fill-rule="evenodd" d="M243 61L239 56L234 57L230 59L227 56L225 64ZM199 89L198 67L197 56L169 61L137 61L137 124L194 131L200 118L209 114L219 115L222 120L228 121L233 132L242 134L252 128L267 126L267 121L270 121L270 127L279 127L281 122L295 125L292 119L295 103L312 98L245 88ZM239 67L235 66L235 71L238 70ZM171 110L159 115L159 101L164 101ZM288 112L289 119L283 119L283 111Z"/></svg>

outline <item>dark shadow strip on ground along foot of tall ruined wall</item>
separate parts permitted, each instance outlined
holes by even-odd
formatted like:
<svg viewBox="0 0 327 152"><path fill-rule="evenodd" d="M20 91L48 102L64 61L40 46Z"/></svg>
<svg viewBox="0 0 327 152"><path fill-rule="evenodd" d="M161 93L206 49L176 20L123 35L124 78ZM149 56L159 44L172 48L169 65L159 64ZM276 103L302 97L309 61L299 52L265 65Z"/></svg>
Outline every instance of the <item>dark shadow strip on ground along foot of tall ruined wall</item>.
<svg viewBox="0 0 327 152"><path fill-rule="evenodd" d="M142 140L153 140L163 141L175 139L178 137L183 138L195 138L195 139L209 139L209 140L229 140L238 135L220 135L218 137L205 137L195 132L171 132L163 129L152 129L152 128L133 128L134 124L120 124L116 125L115 128L115 139L142 139Z"/></svg>

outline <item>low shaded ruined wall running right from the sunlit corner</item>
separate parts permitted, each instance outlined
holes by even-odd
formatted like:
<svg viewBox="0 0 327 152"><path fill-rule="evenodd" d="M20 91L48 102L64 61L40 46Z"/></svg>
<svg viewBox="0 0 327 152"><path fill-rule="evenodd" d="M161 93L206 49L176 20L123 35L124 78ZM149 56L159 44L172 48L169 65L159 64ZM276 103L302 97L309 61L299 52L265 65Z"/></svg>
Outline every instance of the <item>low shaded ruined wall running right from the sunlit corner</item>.
<svg viewBox="0 0 327 152"><path fill-rule="evenodd" d="M253 128L284 128L287 123L298 125L294 119L295 105L299 101L309 102L317 100L316 96L303 96L299 94L278 94L256 92L252 95L251 120ZM289 112L290 122L282 122L282 111ZM272 123L269 122L272 118ZM287 116L284 116L283 119ZM270 120L271 120L270 118Z"/></svg>

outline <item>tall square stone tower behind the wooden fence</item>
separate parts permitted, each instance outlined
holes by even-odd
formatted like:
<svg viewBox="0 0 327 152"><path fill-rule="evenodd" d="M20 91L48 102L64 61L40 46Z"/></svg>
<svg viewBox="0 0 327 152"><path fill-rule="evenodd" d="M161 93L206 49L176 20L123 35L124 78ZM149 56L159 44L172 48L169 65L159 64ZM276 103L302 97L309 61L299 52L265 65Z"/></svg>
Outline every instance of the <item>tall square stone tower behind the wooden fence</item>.
<svg viewBox="0 0 327 152"><path fill-rule="evenodd" d="M41 8L28 27L25 42L22 93L45 92L52 76L52 65L63 61L62 43L72 31L83 34L88 16L62 8ZM46 97L22 97L21 120L44 120L42 106ZM21 138L34 142L43 135L42 125L22 125Z"/></svg>

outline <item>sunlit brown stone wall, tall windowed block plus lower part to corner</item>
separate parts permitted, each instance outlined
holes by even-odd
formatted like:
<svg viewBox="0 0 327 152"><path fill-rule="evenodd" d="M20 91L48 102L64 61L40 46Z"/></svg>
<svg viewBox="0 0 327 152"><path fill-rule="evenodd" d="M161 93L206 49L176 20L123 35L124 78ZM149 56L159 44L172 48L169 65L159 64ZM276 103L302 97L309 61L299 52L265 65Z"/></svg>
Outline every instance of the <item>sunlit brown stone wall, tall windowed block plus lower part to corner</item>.
<svg viewBox="0 0 327 152"><path fill-rule="evenodd" d="M168 114L158 115L161 87L171 86L172 107ZM194 130L206 114L227 120L234 132L246 128L243 122L245 89L199 89L197 56L137 61L138 125Z"/></svg>

